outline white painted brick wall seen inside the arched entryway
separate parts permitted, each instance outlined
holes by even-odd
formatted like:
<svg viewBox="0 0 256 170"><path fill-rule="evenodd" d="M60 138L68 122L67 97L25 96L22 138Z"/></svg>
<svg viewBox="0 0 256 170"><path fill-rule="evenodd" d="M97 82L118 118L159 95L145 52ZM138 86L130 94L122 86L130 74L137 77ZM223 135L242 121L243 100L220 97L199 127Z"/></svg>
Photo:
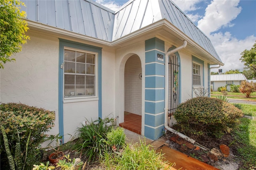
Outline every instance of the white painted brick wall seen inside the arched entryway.
<svg viewBox="0 0 256 170"><path fill-rule="evenodd" d="M142 73L140 58L132 55L124 69L124 111L141 115L142 106Z"/></svg>

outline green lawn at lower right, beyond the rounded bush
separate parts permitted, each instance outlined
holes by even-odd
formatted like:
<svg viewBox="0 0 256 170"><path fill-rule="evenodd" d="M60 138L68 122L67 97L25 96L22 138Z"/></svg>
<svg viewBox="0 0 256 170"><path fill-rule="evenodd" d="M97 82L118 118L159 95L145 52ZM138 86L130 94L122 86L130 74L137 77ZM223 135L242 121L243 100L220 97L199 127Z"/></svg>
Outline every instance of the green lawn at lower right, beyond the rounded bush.
<svg viewBox="0 0 256 170"><path fill-rule="evenodd" d="M244 168L256 168L256 105L242 104L244 115L250 115L254 119L241 118L241 124L234 132L235 143Z"/></svg>

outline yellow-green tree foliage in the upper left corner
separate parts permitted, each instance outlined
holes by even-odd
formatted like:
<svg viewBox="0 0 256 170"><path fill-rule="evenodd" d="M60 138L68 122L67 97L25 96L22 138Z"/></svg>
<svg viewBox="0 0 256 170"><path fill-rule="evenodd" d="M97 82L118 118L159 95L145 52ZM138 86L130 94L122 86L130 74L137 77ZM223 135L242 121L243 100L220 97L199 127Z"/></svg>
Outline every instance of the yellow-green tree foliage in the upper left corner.
<svg viewBox="0 0 256 170"><path fill-rule="evenodd" d="M10 56L21 51L29 39L25 35L28 24L23 20L26 12L20 11L20 6L25 6L20 0L0 0L0 69L4 63L15 61Z"/></svg>

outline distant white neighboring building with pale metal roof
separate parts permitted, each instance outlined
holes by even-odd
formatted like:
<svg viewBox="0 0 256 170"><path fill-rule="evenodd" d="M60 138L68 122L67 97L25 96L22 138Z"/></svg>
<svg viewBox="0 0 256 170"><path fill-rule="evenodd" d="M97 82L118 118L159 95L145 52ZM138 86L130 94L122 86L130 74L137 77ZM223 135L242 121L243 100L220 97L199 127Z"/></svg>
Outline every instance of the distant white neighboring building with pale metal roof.
<svg viewBox="0 0 256 170"><path fill-rule="evenodd" d="M218 87L227 85L229 91L230 85L240 85L244 80L248 81L242 73L211 75L211 87L214 91L218 91Z"/></svg>

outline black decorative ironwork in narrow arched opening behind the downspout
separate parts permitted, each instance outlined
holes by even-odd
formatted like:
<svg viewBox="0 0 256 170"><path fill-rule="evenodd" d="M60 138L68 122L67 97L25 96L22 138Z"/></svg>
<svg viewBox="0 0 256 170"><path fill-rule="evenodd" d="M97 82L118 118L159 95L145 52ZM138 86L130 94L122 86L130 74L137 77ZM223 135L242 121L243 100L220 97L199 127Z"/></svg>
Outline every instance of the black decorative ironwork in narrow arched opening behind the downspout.
<svg viewBox="0 0 256 170"><path fill-rule="evenodd" d="M179 105L179 67L180 63L178 62L178 57L175 54L170 55L169 58L169 114L173 115L176 108Z"/></svg>

